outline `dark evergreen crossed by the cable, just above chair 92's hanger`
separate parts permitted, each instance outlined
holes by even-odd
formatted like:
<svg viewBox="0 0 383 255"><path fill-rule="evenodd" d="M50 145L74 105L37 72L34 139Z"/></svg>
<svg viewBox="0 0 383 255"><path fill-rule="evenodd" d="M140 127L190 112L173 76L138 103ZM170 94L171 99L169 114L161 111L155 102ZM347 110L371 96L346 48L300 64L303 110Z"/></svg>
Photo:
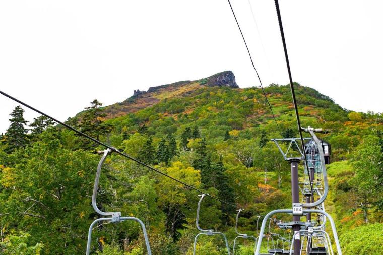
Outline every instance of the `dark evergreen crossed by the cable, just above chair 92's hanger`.
<svg viewBox="0 0 383 255"><path fill-rule="evenodd" d="M97 99L93 100L91 106L85 108L87 111L80 122L81 132L97 140L100 140L100 136L106 135L111 131L111 126L105 124L104 121L101 120L101 118L106 117L106 114L102 113L103 110L100 106L102 106L102 103ZM84 138L83 136L80 136L79 140L80 148L89 149L97 146L95 143L89 142L89 139Z"/></svg>

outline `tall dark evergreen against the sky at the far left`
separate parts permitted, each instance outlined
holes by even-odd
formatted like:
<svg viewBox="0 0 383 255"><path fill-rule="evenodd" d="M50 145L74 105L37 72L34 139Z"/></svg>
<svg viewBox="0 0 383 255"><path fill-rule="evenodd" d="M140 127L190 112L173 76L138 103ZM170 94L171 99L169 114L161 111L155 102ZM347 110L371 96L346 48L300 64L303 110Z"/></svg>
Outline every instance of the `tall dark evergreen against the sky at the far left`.
<svg viewBox="0 0 383 255"><path fill-rule="evenodd" d="M7 153L14 151L16 148L24 148L28 144L28 129L24 126L28 121L24 119L23 114L24 110L20 106L16 106L10 114L12 116L9 119L11 125L4 135L6 137L7 148L5 151Z"/></svg>

